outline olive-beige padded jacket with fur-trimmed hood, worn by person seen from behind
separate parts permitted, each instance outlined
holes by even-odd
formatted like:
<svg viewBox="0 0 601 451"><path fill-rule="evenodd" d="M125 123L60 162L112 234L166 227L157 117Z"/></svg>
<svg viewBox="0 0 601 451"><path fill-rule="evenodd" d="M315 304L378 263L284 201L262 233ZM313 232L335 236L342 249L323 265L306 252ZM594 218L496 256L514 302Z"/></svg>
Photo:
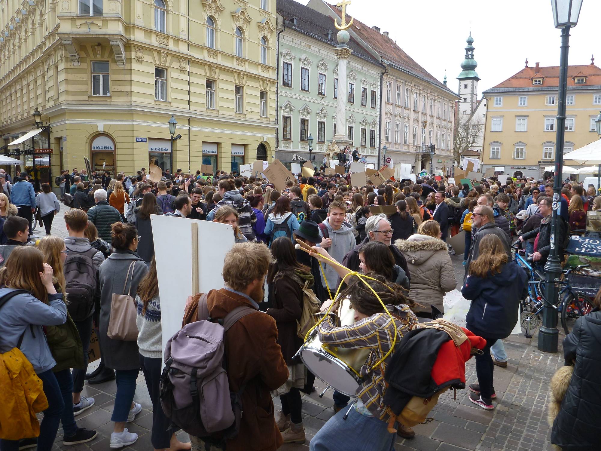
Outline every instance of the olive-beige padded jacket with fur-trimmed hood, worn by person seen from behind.
<svg viewBox="0 0 601 451"><path fill-rule="evenodd" d="M398 239L394 245L407 260L411 274L409 297L422 305L415 311L430 313L430 305L434 305L444 312L442 298L457 286L447 244L432 236L416 234L406 240Z"/></svg>

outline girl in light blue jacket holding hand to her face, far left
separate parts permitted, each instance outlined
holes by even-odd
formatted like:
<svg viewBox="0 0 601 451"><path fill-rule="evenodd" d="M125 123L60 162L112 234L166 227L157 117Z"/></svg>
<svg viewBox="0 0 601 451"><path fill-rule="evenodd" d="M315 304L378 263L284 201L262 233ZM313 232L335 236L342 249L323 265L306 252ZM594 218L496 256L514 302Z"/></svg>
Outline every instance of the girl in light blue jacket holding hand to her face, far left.
<svg viewBox="0 0 601 451"><path fill-rule="evenodd" d="M0 352L20 349L41 379L48 401L37 438L40 451L50 451L54 446L64 408L61 388L52 372L56 361L44 334L44 327L67 321L67 305L63 295L56 293L52 280L52 268L44 263L44 255L34 246L14 249L0 269L0 298L12 295L2 305ZM15 290L27 293L13 293ZM19 441L2 439L0 448L16 451Z"/></svg>

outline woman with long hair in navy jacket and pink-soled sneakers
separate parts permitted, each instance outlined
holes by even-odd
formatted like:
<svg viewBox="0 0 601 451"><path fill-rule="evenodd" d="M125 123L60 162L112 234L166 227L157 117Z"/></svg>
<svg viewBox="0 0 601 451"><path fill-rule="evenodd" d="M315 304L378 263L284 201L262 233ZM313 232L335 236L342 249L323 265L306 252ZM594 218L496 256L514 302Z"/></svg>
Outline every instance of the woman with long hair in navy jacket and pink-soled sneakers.
<svg viewBox="0 0 601 451"><path fill-rule="evenodd" d="M528 295L527 280L522 266L508 260L498 236L489 233L481 239L480 254L469 265L461 293L472 301L466 327L486 340L483 354L476 354L478 384L469 384L469 400L484 410L494 408L492 399L496 397L490 347L507 338L516 325L520 299Z"/></svg>

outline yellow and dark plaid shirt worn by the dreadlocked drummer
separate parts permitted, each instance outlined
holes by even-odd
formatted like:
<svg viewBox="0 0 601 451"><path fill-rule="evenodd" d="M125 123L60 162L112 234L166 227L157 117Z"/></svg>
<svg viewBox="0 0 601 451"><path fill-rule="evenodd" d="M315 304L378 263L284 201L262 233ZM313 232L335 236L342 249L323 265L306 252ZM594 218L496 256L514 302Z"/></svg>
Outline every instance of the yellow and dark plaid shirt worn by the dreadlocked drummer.
<svg viewBox="0 0 601 451"><path fill-rule="evenodd" d="M418 321L413 311L405 304L386 307L394 315L394 324L397 328L395 348L398 348L404 333ZM374 370L371 370L371 367L384 357L392 346L394 329L391 327L388 314L376 313L353 325L343 327L335 327L328 315L319 325L319 339L324 344L339 348L371 349L367 362L359 372L364 382L359 386L356 394L374 417L387 422L389 414L386 413L386 406L383 404L384 390L386 390L384 373L392 353Z"/></svg>

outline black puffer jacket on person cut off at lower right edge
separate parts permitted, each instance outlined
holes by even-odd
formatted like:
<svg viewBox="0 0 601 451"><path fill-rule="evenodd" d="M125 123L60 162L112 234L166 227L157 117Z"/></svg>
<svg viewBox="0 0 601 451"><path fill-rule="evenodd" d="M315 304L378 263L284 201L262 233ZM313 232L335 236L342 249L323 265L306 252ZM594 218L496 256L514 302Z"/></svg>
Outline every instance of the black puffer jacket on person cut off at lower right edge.
<svg viewBox="0 0 601 451"><path fill-rule="evenodd" d="M553 422L551 443L563 451L599 449L601 443L601 311L576 320L563 341L566 363L576 361L570 385Z"/></svg>

